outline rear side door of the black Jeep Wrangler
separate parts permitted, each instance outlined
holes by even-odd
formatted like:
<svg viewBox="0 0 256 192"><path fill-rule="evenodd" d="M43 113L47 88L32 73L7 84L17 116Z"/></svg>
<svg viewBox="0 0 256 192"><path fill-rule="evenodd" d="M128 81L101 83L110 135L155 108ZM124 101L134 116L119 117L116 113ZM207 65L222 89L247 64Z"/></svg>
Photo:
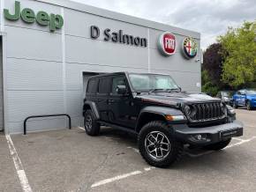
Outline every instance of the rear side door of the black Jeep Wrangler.
<svg viewBox="0 0 256 192"><path fill-rule="evenodd" d="M96 100L95 100L101 120L104 122L109 122L108 100L109 100L110 84L111 84L110 77L103 77L99 79L99 86L98 86L98 91L97 91Z"/></svg>

